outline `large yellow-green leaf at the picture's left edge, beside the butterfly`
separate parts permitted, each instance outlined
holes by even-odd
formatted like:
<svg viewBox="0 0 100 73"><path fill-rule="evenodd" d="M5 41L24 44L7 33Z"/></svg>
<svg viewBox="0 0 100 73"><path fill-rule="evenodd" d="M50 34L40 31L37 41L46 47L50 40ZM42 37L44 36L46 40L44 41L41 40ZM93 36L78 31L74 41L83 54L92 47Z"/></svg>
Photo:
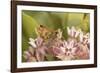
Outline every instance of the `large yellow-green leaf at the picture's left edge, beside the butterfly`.
<svg viewBox="0 0 100 73"><path fill-rule="evenodd" d="M25 37L36 37L35 28L38 26L35 19L22 12L22 32Z"/></svg>

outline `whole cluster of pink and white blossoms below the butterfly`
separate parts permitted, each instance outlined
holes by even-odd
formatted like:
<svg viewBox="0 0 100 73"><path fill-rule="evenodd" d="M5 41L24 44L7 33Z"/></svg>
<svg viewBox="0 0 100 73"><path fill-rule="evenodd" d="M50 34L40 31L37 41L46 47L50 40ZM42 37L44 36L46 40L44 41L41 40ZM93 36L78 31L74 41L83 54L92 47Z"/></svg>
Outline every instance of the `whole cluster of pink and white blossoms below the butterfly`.
<svg viewBox="0 0 100 73"><path fill-rule="evenodd" d="M44 40L40 36L29 38L29 48L24 51L27 62L46 61L47 55L54 60L83 60L89 59L90 36L75 27L67 27L68 38L62 39L62 31L57 30L55 36Z"/></svg>

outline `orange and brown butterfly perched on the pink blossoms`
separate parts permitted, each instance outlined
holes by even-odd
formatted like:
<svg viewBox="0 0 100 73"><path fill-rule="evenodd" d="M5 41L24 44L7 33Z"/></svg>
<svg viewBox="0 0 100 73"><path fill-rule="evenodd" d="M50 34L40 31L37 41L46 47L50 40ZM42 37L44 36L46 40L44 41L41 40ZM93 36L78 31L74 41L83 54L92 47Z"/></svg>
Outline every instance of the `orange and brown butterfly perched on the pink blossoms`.
<svg viewBox="0 0 100 73"><path fill-rule="evenodd" d="M49 29L48 27L44 26L44 25L39 25L36 29L36 34L40 37L42 37L43 39L48 39L50 34L53 32L53 30Z"/></svg>

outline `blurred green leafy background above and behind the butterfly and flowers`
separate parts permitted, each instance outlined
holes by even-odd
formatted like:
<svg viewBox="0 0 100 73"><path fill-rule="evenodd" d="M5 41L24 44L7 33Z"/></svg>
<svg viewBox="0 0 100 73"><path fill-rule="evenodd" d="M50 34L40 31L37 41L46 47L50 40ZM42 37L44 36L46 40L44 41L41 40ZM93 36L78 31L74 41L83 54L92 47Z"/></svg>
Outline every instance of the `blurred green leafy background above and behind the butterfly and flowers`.
<svg viewBox="0 0 100 73"><path fill-rule="evenodd" d="M22 54L29 47L29 38L36 38L35 28L44 25L50 29L60 28L67 39L67 27L75 26L89 32L90 15L88 13L45 12L22 10ZM25 62L22 56L22 62Z"/></svg>

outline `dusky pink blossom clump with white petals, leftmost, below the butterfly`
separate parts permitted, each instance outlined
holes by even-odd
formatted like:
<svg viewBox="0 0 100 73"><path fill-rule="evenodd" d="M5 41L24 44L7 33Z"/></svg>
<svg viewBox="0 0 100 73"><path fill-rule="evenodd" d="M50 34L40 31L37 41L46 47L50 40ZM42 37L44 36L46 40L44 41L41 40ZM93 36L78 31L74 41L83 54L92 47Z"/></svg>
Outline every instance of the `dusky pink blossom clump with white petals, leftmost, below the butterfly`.
<svg viewBox="0 0 100 73"><path fill-rule="evenodd" d="M43 39L40 37L36 39L29 38L28 43L31 48L29 47L28 50L24 52L24 58L26 60L28 59L27 61L43 61L46 54L46 47L42 45Z"/></svg>

